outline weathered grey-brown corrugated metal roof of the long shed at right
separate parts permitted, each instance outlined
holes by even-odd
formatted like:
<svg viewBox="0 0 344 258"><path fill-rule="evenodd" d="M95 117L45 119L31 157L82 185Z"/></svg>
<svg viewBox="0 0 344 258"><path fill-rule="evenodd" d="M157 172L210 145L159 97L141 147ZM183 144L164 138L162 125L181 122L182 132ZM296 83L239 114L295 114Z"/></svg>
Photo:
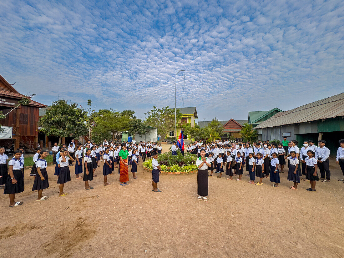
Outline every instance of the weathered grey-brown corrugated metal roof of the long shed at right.
<svg viewBox="0 0 344 258"><path fill-rule="evenodd" d="M261 122L255 129L304 123L340 116L344 116L344 93L277 113L266 121Z"/></svg>

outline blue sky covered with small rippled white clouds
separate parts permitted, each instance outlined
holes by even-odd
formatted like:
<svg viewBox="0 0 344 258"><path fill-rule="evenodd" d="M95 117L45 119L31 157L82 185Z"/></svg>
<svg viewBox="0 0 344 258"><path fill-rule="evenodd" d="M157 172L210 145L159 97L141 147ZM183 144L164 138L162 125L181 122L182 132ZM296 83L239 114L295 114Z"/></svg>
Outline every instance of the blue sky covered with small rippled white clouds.
<svg viewBox="0 0 344 258"><path fill-rule="evenodd" d="M0 35L0 74L45 105L91 99L144 119L174 108L176 70L177 107L199 121L344 91L342 0L8 0Z"/></svg>

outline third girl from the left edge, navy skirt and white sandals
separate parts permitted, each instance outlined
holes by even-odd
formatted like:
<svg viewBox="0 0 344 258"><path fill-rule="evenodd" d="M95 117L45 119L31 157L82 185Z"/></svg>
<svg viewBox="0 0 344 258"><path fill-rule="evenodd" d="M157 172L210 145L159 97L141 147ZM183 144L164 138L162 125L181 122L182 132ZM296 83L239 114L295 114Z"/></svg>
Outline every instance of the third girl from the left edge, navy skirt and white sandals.
<svg viewBox="0 0 344 258"><path fill-rule="evenodd" d="M47 196L42 196L43 190L47 189L49 187L49 181L48 181L48 173L46 172L46 156L48 155L48 152L45 150L42 150L40 152L39 158L36 160L36 168L37 168L37 175L35 176L35 179L33 181L32 191L38 191L38 197L36 201L45 201Z"/></svg>

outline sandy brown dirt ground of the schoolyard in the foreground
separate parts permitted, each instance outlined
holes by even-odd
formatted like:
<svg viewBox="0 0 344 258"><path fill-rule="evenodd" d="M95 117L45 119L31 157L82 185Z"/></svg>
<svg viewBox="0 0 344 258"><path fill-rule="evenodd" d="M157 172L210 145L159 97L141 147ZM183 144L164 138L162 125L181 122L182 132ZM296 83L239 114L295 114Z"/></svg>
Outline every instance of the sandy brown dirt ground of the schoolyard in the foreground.
<svg viewBox="0 0 344 258"><path fill-rule="evenodd" d="M0 196L0 257L343 257L343 175L330 164L331 182L318 182L316 192L304 181L288 189L287 173L279 188L268 179L257 186L246 176L213 176L208 202L197 200L196 174L162 174L162 193L152 192L142 160L127 186L117 173L103 186L100 162L93 190L84 190L72 166L64 197L49 166L42 202L26 170L25 191L16 196L24 204L9 208L8 195Z"/></svg>

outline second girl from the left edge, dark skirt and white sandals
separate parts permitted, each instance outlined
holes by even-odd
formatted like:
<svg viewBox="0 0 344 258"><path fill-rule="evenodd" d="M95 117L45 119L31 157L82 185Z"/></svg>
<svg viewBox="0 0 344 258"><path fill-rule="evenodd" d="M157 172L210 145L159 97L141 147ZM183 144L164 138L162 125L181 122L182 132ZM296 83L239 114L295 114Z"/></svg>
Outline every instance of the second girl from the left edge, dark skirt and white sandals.
<svg viewBox="0 0 344 258"><path fill-rule="evenodd" d="M24 176L22 169L24 164L20 160L22 152L19 150L14 151L14 157L8 162L9 175L7 176L3 194L10 195L10 206L22 205L23 202L15 202L15 194L24 191Z"/></svg>

